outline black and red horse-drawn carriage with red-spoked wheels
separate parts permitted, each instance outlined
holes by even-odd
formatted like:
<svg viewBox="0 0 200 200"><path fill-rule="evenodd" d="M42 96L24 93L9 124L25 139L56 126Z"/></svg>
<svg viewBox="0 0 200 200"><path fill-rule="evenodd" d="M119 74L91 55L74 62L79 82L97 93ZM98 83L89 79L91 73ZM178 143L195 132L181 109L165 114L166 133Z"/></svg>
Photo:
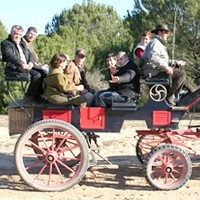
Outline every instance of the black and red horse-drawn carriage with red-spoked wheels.
<svg viewBox="0 0 200 200"><path fill-rule="evenodd" d="M190 155L196 153L185 141L200 139L200 125L181 130L179 121L200 102L200 89L185 95L176 107L169 107L163 98L165 83L148 81L151 98L142 107L118 102L111 108L33 106L13 99L13 107L20 108L31 121L15 146L19 175L36 190L69 189L81 181L94 158L90 148L93 133L120 132L125 120L145 120L148 129L136 130L136 154L147 181L162 190L181 187L192 172Z"/></svg>

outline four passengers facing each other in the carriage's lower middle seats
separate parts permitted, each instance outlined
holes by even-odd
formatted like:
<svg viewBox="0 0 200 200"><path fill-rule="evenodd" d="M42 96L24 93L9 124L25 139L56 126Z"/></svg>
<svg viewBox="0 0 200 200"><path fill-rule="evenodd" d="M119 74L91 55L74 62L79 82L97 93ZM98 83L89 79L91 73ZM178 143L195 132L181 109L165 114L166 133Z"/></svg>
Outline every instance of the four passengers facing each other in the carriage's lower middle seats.
<svg viewBox="0 0 200 200"><path fill-rule="evenodd" d="M68 64L64 54L53 56L51 72L44 79L44 96L48 102L56 105L111 107L112 101L126 102L139 93L139 71L125 52L120 51L116 56L108 55L106 62L110 71L110 87L97 92L91 89L86 80L85 58L86 51L82 48L77 49L75 59Z"/></svg>

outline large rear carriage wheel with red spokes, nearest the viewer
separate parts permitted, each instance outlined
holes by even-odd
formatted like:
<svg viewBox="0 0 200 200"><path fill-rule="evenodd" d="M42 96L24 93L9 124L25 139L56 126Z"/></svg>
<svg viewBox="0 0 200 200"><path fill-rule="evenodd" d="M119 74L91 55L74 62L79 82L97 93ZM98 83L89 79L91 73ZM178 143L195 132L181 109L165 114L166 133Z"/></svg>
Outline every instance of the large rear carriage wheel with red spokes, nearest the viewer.
<svg viewBox="0 0 200 200"><path fill-rule="evenodd" d="M59 120L34 123L15 146L19 175L39 191L71 188L85 175L88 162L88 145L82 133Z"/></svg>

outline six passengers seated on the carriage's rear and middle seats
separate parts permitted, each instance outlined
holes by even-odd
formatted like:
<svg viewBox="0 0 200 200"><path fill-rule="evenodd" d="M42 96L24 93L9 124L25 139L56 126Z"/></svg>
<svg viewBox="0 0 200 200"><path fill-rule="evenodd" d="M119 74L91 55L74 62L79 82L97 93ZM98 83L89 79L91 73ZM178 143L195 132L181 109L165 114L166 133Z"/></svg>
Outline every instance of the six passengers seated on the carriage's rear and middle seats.
<svg viewBox="0 0 200 200"><path fill-rule="evenodd" d="M95 92L86 79L84 61L87 55L84 49L78 48L72 61L65 54L55 54L50 61L49 71L39 63L31 45L37 36L37 29L30 27L25 36L23 31L21 26L14 25L8 38L1 42L1 52L7 63L6 74L28 72L31 75L26 100L39 102L44 97L56 105L109 107L112 99L126 101L139 93L139 71L126 52L120 51L106 58L110 87Z"/></svg>

